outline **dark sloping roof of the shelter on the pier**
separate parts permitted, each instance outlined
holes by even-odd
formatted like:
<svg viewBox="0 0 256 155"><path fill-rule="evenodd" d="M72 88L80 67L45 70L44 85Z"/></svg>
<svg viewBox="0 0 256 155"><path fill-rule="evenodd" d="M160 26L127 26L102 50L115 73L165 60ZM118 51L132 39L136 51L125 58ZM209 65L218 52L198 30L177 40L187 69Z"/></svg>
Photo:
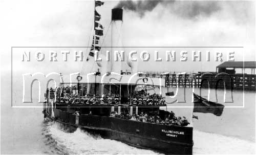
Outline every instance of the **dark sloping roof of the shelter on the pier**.
<svg viewBox="0 0 256 155"><path fill-rule="evenodd" d="M256 61L226 61L217 66L217 68L256 68Z"/></svg>

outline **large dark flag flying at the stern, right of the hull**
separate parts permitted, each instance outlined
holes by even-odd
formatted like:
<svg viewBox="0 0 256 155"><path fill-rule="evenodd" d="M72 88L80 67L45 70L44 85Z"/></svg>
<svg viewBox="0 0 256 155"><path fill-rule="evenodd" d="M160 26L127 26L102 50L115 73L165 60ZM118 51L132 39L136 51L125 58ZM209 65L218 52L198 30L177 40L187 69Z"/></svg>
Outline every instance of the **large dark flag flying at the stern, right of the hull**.
<svg viewBox="0 0 256 155"><path fill-rule="evenodd" d="M224 105L220 104L220 103L214 103L211 101L208 101L205 98L202 98L199 95L196 95L195 93L193 93L194 95L194 110L193 112L195 113L211 113L214 114L216 116L221 116L223 109L224 109Z"/></svg>

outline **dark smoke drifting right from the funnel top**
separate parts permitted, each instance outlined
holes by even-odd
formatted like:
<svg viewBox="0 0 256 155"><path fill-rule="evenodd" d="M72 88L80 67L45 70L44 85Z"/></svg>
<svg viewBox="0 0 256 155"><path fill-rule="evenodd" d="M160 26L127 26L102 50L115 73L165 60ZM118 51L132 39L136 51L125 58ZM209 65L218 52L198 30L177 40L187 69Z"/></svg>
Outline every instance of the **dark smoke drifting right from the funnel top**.
<svg viewBox="0 0 256 155"><path fill-rule="evenodd" d="M115 8L122 8L138 13L143 17L146 12L153 11L158 5L162 5L169 12L183 18L195 18L197 16L210 16L221 10L218 1L120 1Z"/></svg>

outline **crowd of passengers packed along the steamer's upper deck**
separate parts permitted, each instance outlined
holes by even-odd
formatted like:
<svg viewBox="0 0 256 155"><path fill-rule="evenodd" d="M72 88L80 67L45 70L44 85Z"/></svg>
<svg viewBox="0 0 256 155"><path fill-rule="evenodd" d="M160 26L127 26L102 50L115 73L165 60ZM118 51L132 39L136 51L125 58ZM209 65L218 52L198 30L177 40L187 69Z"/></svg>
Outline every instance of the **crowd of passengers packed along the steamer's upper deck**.
<svg viewBox="0 0 256 155"><path fill-rule="evenodd" d="M52 87L50 91L54 92L55 89ZM59 96L60 94L60 96ZM78 94L77 86L66 86L62 88L60 91L59 87L56 87L56 99L59 102L65 102L68 104L80 103L80 104L119 104L120 97L118 93L112 94L102 94L99 95L92 95L87 94L87 92L80 96ZM165 104L165 98L159 94L152 94L146 93L144 90L141 91L134 91L132 93L132 98L129 99L127 103L134 105L163 105Z"/></svg>

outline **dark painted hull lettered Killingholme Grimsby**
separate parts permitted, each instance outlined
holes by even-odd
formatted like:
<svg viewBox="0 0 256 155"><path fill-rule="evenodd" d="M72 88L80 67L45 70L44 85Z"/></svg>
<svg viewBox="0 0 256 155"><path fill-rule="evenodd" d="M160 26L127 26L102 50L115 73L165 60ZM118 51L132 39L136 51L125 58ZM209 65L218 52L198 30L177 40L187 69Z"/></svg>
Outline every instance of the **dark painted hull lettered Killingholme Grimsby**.
<svg viewBox="0 0 256 155"><path fill-rule="evenodd" d="M166 154L192 154L192 127L159 125L93 115L81 115L79 123L76 123L75 116L70 113L54 109L54 114L55 118L50 117L51 119L96 132L102 138ZM176 134L170 133L172 131L177 132Z"/></svg>

